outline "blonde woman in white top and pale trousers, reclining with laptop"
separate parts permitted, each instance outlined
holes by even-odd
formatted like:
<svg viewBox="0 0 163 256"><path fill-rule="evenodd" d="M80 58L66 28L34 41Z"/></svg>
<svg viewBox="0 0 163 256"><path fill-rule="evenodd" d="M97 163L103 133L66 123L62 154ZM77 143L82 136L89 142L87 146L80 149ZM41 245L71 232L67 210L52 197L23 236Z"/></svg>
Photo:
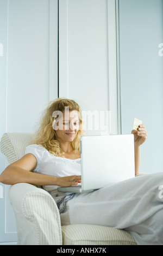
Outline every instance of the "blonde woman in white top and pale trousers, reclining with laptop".
<svg viewBox="0 0 163 256"><path fill-rule="evenodd" d="M163 184L163 173L136 177L91 193L57 192L58 186L68 187L81 182L82 124L82 111L73 100L57 99L50 103L43 113L33 145L26 148L24 157L2 172L0 182L43 186L56 201L64 225L108 225L128 230L140 245L163 244L163 200L158 190ZM147 139L147 131L141 125L132 133L135 174L138 174L140 146Z"/></svg>

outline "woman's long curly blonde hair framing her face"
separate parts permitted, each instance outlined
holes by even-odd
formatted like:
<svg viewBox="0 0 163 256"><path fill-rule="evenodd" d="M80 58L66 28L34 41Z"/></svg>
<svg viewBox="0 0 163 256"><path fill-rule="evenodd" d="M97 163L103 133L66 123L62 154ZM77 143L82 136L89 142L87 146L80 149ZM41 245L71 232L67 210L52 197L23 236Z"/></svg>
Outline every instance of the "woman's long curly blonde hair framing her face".
<svg viewBox="0 0 163 256"><path fill-rule="evenodd" d="M53 123L56 117L53 117L54 111L61 111L64 113L65 108L68 107L69 111L77 110L79 112L79 130L71 142L73 150L77 153L80 152L80 136L85 135L85 131L82 128L82 110L79 105L71 99L58 98L50 102L47 109L45 109L41 116L40 127L34 135L33 144L38 144L46 148L49 153L54 154L54 156L64 157L64 151L61 150L59 142L57 140L57 135L53 129Z"/></svg>

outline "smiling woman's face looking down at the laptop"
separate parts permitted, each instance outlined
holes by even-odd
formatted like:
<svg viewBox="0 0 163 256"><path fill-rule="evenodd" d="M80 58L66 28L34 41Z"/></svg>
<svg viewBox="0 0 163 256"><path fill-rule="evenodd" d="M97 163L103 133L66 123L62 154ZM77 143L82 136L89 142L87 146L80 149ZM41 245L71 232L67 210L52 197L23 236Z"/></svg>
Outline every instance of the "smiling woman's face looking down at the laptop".
<svg viewBox="0 0 163 256"><path fill-rule="evenodd" d="M55 126L57 140L72 142L79 130L79 113L76 110L64 112Z"/></svg>

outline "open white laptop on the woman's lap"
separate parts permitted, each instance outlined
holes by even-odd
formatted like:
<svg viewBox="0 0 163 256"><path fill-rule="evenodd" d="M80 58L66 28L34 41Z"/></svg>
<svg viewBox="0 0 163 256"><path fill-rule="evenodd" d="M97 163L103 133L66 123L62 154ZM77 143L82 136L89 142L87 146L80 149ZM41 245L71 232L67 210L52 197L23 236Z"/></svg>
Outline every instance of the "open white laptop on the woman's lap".
<svg viewBox="0 0 163 256"><path fill-rule="evenodd" d="M80 138L82 183L59 192L87 193L135 177L134 135Z"/></svg>

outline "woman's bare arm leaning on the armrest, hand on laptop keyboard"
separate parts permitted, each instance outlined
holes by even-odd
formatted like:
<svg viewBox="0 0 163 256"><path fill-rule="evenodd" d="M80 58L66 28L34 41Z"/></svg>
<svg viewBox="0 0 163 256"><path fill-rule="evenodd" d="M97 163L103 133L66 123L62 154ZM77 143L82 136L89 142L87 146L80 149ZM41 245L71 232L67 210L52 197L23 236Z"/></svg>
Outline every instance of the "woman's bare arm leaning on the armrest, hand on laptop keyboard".
<svg viewBox="0 0 163 256"><path fill-rule="evenodd" d="M20 160L10 164L0 175L0 182L4 184L30 183L39 186L55 185L69 187L81 182L81 176L54 177L36 174L33 170L37 160L33 154L26 154Z"/></svg>

